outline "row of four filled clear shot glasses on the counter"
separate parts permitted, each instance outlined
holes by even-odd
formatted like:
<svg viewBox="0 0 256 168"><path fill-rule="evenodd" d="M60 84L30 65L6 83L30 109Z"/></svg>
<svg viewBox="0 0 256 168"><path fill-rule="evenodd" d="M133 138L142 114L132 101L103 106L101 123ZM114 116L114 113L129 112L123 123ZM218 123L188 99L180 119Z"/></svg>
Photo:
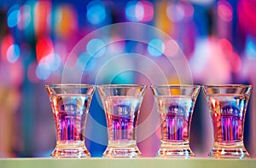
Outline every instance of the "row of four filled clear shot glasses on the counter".
<svg viewBox="0 0 256 168"><path fill-rule="evenodd" d="M54 158L89 158L85 147L85 123L90 101L99 91L108 125L104 158L137 158L137 119L146 85L139 84L50 84L45 85L55 118ZM151 85L160 115L158 158L191 158L189 130L195 101L202 88L212 117L213 147L209 157L249 158L243 142L250 84L161 84Z"/></svg>

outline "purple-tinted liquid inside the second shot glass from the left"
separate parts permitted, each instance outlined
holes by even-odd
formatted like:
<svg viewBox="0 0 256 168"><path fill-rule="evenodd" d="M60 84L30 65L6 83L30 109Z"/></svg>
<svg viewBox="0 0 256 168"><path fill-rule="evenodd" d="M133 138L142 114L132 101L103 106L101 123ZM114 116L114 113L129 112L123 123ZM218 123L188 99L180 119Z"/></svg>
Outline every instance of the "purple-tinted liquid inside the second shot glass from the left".
<svg viewBox="0 0 256 168"><path fill-rule="evenodd" d="M108 124L108 143L136 143L137 115L142 98L110 96L103 99Z"/></svg>

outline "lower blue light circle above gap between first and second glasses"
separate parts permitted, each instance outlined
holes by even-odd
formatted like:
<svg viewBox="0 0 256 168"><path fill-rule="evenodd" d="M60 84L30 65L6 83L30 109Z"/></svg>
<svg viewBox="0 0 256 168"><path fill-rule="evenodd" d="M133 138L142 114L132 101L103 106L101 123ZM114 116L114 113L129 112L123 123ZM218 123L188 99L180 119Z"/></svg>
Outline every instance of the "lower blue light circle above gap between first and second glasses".
<svg viewBox="0 0 256 168"><path fill-rule="evenodd" d="M92 38L86 45L87 52L90 56L100 57L105 53L105 43L99 38Z"/></svg>

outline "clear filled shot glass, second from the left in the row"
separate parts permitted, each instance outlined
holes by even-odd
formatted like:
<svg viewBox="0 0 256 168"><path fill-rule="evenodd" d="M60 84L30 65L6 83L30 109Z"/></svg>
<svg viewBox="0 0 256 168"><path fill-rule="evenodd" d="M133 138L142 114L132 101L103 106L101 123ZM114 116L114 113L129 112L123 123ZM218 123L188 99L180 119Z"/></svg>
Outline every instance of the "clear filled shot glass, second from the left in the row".
<svg viewBox="0 0 256 168"><path fill-rule="evenodd" d="M108 125L108 147L104 158L137 158L137 119L145 85L106 84L97 86Z"/></svg>

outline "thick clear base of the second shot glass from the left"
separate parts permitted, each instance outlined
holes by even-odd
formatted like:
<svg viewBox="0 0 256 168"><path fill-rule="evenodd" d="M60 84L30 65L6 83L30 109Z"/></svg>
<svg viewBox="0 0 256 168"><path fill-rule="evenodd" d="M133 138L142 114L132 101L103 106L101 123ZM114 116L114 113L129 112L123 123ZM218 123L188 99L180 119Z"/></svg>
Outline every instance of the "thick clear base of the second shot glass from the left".
<svg viewBox="0 0 256 168"><path fill-rule="evenodd" d="M110 148L108 147L103 154L103 158L138 158L142 153L135 148Z"/></svg>

